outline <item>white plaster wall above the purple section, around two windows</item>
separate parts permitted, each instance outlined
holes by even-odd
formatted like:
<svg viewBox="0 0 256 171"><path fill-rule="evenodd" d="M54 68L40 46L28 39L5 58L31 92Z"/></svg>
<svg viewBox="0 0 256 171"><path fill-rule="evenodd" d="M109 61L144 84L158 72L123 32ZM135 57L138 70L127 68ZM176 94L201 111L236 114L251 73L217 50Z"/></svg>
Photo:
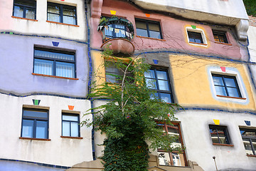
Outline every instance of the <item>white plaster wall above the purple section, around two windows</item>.
<svg viewBox="0 0 256 171"><path fill-rule="evenodd" d="M38 21L28 21L11 18L13 14L13 0L0 0L0 31L13 31L15 33L27 33L36 35L48 35L85 41L87 36L85 23L85 2L84 0L50 0L56 4L66 4L76 6L77 24L76 26L65 26L62 24L52 24L47 20L47 0L36 0L36 19Z"/></svg>

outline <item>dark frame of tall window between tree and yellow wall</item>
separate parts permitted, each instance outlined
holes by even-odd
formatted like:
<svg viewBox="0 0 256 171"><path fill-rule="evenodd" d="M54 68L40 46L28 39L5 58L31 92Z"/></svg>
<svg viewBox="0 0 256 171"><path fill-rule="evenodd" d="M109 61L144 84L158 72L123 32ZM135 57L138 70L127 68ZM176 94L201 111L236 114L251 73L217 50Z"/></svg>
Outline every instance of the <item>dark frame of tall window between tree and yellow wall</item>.
<svg viewBox="0 0 256 171"><path fill-rule="evenodd" d="M161 99L161 94L160 93L167 93L171 95L171 103L174 103L174 95L172 93L172 88L171 88L171 80L169 78L169 70L167 68L157 68L157 67L151 67L149 70L153 70L154 71L154 75L155 75L155 79L154 78L150 78L150 79L154 79L156 80L156 93L158 94L158 97ZM156 71L164 71L166 72L166 76L167 76L167 80L163 80L163 79L159 79L157 77ZM146 77L145 77L146 78ZM168 86L169 86L169 91L168 90L160 90L159 89L159 80L163 80L163 81L168 81Z"/></svg>

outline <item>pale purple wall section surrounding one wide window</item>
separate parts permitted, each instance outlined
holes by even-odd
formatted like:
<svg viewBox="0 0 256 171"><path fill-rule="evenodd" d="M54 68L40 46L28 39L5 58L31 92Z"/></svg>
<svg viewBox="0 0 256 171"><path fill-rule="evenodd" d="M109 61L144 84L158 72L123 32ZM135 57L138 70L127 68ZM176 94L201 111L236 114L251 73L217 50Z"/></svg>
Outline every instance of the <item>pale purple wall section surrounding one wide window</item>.
<svg viewBox="0 0 256 171"><path fill-rule="evenodd" d="M38 38L0 34L0 92L28 95L31 93L53 93L85 98L87 95L88 59L87 45L55 38ZM78 80L33 76L34 45L75 51Z"/></svg>

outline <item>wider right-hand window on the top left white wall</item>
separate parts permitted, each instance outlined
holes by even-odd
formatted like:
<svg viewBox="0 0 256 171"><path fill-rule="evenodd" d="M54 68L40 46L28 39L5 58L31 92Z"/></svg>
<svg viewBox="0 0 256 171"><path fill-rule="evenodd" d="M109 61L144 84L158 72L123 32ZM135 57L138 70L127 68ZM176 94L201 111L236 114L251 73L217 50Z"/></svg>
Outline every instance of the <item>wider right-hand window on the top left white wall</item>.
<svg viewBox="0 0 256 171"><path fill-rule="evenodd" d="M77 24L76 7L63 4L47 4L47 20L63 24Z"/></svg>

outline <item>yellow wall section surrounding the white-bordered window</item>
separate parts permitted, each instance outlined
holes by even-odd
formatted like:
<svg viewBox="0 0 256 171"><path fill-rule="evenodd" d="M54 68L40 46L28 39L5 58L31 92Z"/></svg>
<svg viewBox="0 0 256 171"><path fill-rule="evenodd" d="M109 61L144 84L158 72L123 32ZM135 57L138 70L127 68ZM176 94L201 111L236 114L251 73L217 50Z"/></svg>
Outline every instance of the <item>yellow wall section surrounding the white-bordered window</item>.
<svg viewBox="0 0 256 171"><path fill-rule="evenodd" d="M171 71L174 80L174 93L178 103L182 106L206 106L219 108L255 109L250 83L247 80L245 70L240 63L230 61L218 61L210 58L196 58L193 56L169 55ZM242 105L235 102L223 102L216 100L210 90L208 78L208 66L223 66L236 68L245 84L249 103ZM223 98L225 100L225 98Z"/></svg>

